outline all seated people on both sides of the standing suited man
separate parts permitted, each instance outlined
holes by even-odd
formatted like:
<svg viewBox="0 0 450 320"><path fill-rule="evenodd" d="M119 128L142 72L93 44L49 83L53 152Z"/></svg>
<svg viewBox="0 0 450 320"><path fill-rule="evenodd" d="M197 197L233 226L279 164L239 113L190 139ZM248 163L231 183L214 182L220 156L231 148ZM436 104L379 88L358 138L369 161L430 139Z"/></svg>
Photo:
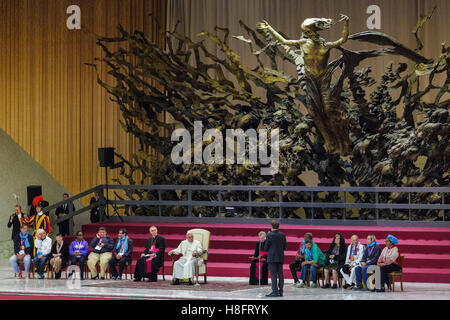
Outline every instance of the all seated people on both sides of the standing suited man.
<svg viewBox="0 0 450 320"><path fill-rule="evenodd" d="M151 237L147 239L145 250L135 266L135 281L141 281L145 277L148 278L148 281L156 281L157 272L164 262L165 239L158 235L155 226L150 228L150 234ZM265 285L268 282L265 252L261 250L261 248L264 248L265 237L265 232L261 231L255 253L251 257L253 261L250 267L250 284L253 285L258 283ZM378 267L380 268L383 286L380 290L384 290L384 284L389 284L388 274L401 270L398 261L398 248L395 246L397 243L398 240L389 235L386 239L386 247L381 251L374 235L367 237L367 248L360 243L358 236L354 235L351 238L351 244L346 247L344 237L341 234L336 234L329 249L324 253L314 243L312 234L307 233L300 245L295 261L290 264L294 286L306 287L309 269L310 286L315 287L316 271L323 268L327 282L324 288L337 288L337 280L343 277L346 282L345 289L367 290L368 286L363 288L362 280L366 284L368 271ZM120 229L117 243L114 244L112 238L106 234L106 229L101 227L90 246L93 251L88 256L89 245L83 239L81 231L77 233L77 240L73 241L70 247L63 241L61 235L56 236L56 241L52 245L51 239L46 236L44 230L37 231L37 238L33 242L33 237L28 234L27 226L23 225L21 232L14 240L15 255L10 258L10 263L16 275L21 277L22 273L19 271L17 261L22 260L24 262L25 273L28 273L31 256L34 256L33 262L37 269L38 278L43 278L44 267L49 260L55 271L55 278L59 279L61 269L69 263L69 260L72 265L78 265L80 270L84 270L84 264L87 260L93 279L98 279L99 276L101 279L105 279L108 266L112 279L122 279L124 267L131 263L133 252L133 241L128 238L127 231ZM199 257L202 254L201 244L193 239L192 234L188 233L186 240L181 242L177 249L169 252L169 255L173 254L183 255L183 258L179 259L174 265L174 284L178 284L179 279L191 279L195 264L201 264L201 259L192 259L192 257ZM97 264L100 266L100 275L97 271ZM301 280L297 277L299 269L301 270ZM333 275L333 286L331 286L330 274ZM83 272L80 272L80 278L83 279ZM191 283L190 280L189 283Z"/></svg>

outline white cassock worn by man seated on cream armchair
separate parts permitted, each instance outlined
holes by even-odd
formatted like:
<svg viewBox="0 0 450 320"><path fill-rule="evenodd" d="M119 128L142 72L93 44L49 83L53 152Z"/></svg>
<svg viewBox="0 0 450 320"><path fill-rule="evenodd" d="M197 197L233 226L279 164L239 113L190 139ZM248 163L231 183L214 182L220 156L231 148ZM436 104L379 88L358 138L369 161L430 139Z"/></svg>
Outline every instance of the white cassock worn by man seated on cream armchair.
<svg viewBox="0 0 450 320"><path fill-rule="evenodd" d="M181 241L178 248L173 250L175 254L182 254L182 257L175 261L173 265L173 277L176 279L189 279L195 274L195 262L197 260L198 265L203 263L202 258L195 258L192 253L196 251L198 255L203 253L202 244L194 240L189 242L187 240Z"/></svg>

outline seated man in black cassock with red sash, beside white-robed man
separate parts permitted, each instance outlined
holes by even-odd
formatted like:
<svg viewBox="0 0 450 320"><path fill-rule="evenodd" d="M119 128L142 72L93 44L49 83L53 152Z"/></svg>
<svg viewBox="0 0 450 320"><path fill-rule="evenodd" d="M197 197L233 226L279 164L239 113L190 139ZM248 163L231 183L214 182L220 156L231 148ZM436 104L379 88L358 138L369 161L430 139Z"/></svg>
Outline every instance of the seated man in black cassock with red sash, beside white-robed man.
<svg viewBox="0 0 450 320"><path fill-rule="evenodd" d="M158 234L155 226L150 227L151 237L145 243L144 253L136 262L134 268L134 281L141 281L148 278L148 282L158 280L158 271L164 264L164 251L166 249L166 239Z"/></svg>

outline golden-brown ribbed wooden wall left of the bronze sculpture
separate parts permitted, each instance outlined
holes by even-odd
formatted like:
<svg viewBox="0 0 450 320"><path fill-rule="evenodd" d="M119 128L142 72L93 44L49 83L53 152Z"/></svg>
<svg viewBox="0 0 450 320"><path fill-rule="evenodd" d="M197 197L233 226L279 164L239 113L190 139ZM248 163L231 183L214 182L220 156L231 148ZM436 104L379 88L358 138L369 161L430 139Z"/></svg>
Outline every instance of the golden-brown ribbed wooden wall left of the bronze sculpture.
<svg viewBox="0 0 450 320"><path fill-rule="evenodd" d="M85 65L103 54L91 33L116 36L121 24L159 41L149 13L164 24L165 2L0 0L0 128L72 194L105 182L98 148L115 147L128 157L137 147L119 124L119 108ZM67 29L66 9L73 4L87 32ZM99 71L113 81L105 66Z"/></svg>

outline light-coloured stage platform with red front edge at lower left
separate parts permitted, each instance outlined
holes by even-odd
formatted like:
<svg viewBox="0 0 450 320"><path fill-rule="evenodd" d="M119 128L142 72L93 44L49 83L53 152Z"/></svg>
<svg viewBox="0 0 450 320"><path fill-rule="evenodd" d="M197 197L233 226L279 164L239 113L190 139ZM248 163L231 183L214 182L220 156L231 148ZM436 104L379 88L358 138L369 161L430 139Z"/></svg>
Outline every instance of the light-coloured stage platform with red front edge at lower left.
<svg viewBox="0 0 450 320"><path fill-rule="evenodd" d="M14 279L11 268L0 267L0 300L93 300L93 299L196 299L196 300L266 300L269 286L248 286L247 278L210 277L208 285L170 288L171 277L159 279L156 283L143 282L136 288L131 280L84 280L80 287L66 280L54 279ZM344 289L299 289L286 280L284 296L276 300L448 300L450 284L404 283L404 291L361 292ZM216 288L214 288L216 286ZM164 287L164 289L158 289Z"/></svg>

